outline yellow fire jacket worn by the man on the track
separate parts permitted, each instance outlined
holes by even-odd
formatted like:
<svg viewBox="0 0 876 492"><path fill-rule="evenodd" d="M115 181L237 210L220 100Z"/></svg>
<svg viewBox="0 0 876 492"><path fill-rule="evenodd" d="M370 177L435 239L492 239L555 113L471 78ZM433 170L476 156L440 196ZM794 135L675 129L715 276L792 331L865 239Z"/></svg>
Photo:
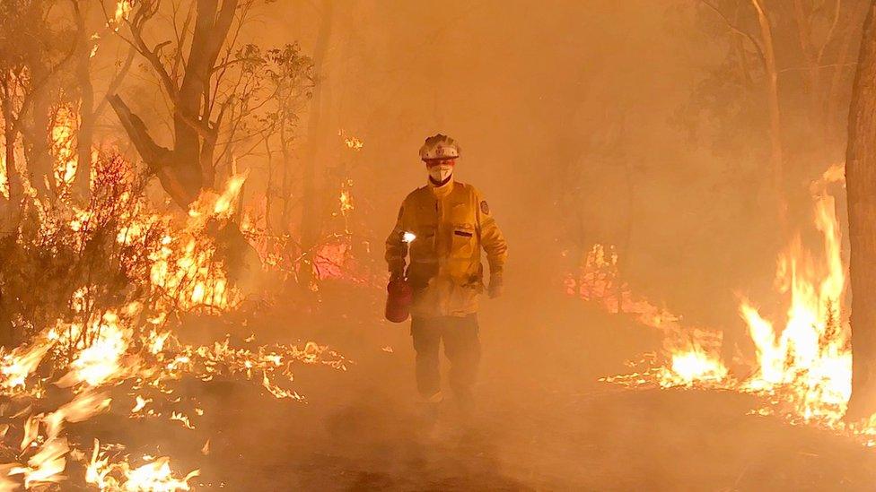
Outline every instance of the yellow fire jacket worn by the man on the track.
<svg viewBox="0 0 876 492"><path fill-rule="evenodd" d="M406 241L413 234L415 238ZM407 195L386 240L393 275L405 273L414 288L415 316L464 316L477 312L484 290L481 248L490 275L502 275L508 246L489 205L474 186L427 185Z"/></svg>

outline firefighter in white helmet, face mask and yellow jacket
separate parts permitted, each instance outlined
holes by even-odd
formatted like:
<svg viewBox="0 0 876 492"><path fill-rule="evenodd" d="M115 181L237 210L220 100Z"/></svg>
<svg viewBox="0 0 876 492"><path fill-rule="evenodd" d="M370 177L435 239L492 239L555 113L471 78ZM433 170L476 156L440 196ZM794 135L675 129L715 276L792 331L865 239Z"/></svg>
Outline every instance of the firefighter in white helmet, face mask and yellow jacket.
<svg viewBox="0 0 876 492"><path fill-rule="evenodd" d="M413 289L411 336L416 386L436 409L443 400L439 346L450 360L450 386L460 409L470 410L480 360L477 298L484 291L481 248L490 268L490 298L503 292L507 246L493 212L474 186L457 182L460 146L442 134L420 148L428 183L407 195L386 241L390 281L407 278ZM407 256L410 263L407 264ZM407 266L407 269L406 269Z"/></svg>

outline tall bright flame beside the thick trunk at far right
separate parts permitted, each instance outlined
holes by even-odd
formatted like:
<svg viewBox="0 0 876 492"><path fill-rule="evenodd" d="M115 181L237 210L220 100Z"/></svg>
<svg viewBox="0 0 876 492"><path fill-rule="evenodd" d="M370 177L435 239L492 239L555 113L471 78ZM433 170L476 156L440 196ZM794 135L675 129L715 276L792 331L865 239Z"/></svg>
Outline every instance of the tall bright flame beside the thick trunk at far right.
<svg viewBox="0 0 876 492"><path fill-rule="evenodd" d="M822 182L836 179L828 169ZM784 329L766 320L748 299L740 315L749 325L758 356L758 373L744 388L782 393L804 421L839 425L852 392L850 329L840 307L845 301L845 265L834 198L816 197L815 227L822 236L823 255L811 255L794 237L779 256L776 288L790 297Z"/></svg>

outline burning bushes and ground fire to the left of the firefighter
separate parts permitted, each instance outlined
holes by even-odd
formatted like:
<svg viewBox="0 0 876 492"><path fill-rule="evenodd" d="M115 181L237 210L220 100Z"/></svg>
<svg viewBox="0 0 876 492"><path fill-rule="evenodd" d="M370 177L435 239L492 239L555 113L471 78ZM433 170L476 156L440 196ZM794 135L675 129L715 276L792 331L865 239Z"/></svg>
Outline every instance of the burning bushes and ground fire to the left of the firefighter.
<svg viewBox="0 0 876 492"><path fill-rule="evenodd" d="M57 136L69 141L66 132ZM58 155L75 174L74 154ZM155 211L128 171L118 158L102 160L84 208L63 199L48 206L28 195L26 206L39 217L39 229L30 232L34 245L52 255L78 252L80 261L101 246L101 262L127 280L109 288L99 281L78 286L46 326L13 320L27 341L0 348L0 463L6 463L0 464L0 491L44 488L70 470L101 490L188 490L198 470L180 472L168 456L70 434L68 425L112 412L164 419L188 432L205 410L181 390L184 381L245 379L275 398L301 401L290 387L294 365L346 368L344 358L312 342L180 341L174 328L181 315L222 315L244 297L217 237L232 224L246 176L231 177L221 193L201 194L188 215L178 217ZM72 177L57 176L63 197ZM27 233L20 234L23 241Z"/></svg>

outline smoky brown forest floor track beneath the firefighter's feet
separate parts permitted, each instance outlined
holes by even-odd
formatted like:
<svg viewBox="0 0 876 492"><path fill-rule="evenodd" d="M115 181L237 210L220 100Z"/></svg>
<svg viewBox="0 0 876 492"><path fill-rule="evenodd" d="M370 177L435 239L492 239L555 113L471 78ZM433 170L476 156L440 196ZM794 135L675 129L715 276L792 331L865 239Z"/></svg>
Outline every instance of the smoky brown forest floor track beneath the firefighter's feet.
<svg viewBox="0 0 876 492"><path fill-rule="evenodd" d="M660 340L571 299L485 302L477 411L462 422L448 405L426 426L407 324L381 320L380 296L361 298L250 325L267 341L328 343L353 363L299 368L306 403L209 386L197 431L184 431L197 438L165 444L184 456L175 468L200 468L197 488L247 491L876 489L876 450L750 415L752 396L600 383Z"/></svg>

